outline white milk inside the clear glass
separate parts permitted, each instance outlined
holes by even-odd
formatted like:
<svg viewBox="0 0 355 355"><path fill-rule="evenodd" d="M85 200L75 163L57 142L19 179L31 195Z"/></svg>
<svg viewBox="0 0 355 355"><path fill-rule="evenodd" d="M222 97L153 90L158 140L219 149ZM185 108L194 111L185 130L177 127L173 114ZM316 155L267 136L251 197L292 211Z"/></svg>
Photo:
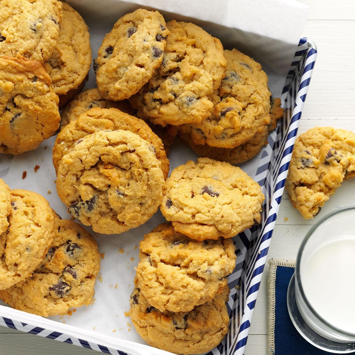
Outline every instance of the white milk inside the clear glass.
<svg viewBox="0 0 355 355"><path fill-rule="evenodd" d="M304 261L300 278L318 315L355 334L355 238L342 237L316 249Z"/></svg>

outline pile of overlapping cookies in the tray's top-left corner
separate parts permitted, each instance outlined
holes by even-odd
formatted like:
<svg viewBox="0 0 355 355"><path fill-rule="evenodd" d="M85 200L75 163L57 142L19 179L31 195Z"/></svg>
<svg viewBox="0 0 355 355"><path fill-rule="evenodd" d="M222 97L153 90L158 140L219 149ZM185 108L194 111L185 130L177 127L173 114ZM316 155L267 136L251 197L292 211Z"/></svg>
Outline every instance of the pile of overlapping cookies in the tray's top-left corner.
<svg viewBox="0 0 355 355"><path fill-rule="evenodd" d="M0 151L20 154L58 130L59 107L84 85L89 32L58 0L4 0L0 13Z"/></svg>

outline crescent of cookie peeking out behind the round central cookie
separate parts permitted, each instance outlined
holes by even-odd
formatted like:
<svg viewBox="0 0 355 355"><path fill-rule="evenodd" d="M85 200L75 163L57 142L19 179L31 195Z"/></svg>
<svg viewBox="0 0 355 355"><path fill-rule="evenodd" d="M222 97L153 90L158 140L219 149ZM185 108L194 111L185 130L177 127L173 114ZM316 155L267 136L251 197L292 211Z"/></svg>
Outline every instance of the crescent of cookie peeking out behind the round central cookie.
<svg viewBox="0 0 355 355"><path fill-rule="evenodd" d="M160 163L159 166L163 170L164 178L168 177L169 159L166 158L159 137L152 132L146 122L115 108L92 108L81 114L76 121L71 122L58 134L53 147L53 164L56 172L58 172L63 155L71 152L82 138L99 130L127 130L151 143Z"/></svg>

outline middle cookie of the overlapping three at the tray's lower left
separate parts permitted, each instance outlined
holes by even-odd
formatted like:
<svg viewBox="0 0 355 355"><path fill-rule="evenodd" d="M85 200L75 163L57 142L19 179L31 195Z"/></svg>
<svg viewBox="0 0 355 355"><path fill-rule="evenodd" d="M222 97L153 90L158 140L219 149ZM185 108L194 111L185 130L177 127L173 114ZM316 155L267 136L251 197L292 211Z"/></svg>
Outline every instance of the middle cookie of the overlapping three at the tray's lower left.
<svg viewBox="0 0 355 355"><path fill-rule="evenodd" d="M11 190L9 228L0 235L0 290L29 277L53 241L54 215L38 193Z"/></svg>

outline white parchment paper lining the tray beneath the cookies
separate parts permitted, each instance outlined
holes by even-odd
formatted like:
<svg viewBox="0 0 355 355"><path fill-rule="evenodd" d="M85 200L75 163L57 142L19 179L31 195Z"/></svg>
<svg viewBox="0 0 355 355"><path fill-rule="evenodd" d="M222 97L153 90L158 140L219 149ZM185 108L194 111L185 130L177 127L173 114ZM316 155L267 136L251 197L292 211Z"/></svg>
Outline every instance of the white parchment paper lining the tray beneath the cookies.
<svg viewBox="0 0 355 355"><path fill-rule="evenodd" d="M308 14L308 7L293 0L70 0L67 1L81 13L89 26L93 58L119 17L139 7L155 8L171 19L191 21L220 38L224 48L237 48L261 62L269 76L269 86L274 95L281 94L283 84L299 42ZM91 69L86 87L95 87ZM1 157L1 177L11 189L26 189L40 193L62 218L70 218L60 201L55 187L52 148L55 137L43 142L34 151ZM170 151L171 169L197 156L177 142ZM241 168L254 175L260 155ZM39 165L37 173L34 166ZM7 168L9 169L7 170ZM22 179L23 171L27 177ZM144 225L120 235L97 235L101 261L100 278L95 286L94 302L81 307L71 316L50 317L88 331L110 335L125 340L144 343L136 333L125 311L129 310L129 297L133 289L135 266L138 262L139 242L165 219L158 211ZM2 303L3 304L3 303Z"/></svg>

